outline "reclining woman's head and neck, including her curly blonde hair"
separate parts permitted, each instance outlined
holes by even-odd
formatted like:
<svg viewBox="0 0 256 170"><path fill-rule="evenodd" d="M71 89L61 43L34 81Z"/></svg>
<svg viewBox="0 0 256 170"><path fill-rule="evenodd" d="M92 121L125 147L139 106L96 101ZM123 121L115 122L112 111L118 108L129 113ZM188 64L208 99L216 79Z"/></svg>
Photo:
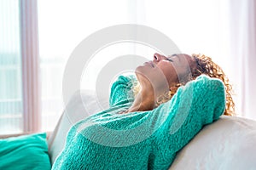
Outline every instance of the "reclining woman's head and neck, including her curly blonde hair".
<svg viewBox="0 0 256 170"><path fill-rule="evenodd" d="M153 61L137 67L136 74L141 89L136 89L139 91L139 93L136 92L137 98L131 108L125 112L152 110L157 105L172 99L172 95L176 93L178 87L205 74L224 82L226 89L224 115L234 115L235 104L230 94L232 88L229 79L225 76L224 71L205 55L193 54L191 57L188 54L173 54L166 57L154 54ZM140 100L143 102L138 102Z"/></svg>

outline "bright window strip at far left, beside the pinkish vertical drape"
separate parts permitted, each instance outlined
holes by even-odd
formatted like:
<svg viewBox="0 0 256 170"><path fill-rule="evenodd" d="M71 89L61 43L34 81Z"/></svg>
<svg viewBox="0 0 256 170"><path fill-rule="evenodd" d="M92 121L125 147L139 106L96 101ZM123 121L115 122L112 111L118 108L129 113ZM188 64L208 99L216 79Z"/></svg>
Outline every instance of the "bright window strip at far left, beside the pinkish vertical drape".
<svg viewBox="0 0 256 170"><path fill-rule="evenodd" d="M19 1L0 1L0 134L23 131Z"/></svg>

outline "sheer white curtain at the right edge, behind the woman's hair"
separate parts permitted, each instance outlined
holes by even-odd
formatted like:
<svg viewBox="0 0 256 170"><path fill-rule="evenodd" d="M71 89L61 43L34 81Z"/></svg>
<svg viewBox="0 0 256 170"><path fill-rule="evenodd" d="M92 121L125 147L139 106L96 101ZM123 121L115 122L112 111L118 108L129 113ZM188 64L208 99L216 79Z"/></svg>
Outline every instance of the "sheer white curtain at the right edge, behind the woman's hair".
<svg viewBox="0 0 256 170"><path fill-rule="evenodd" d="M230 0L230 65L237 112L256 119L256 2Z"/></svg>

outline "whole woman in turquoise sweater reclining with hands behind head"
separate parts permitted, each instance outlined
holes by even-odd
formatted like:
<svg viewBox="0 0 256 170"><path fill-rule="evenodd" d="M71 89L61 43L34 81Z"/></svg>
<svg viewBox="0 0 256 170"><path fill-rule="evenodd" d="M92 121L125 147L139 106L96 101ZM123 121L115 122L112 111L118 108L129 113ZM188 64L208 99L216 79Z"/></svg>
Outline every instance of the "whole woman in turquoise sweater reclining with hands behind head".
<svg viewBox="0 0 256 170"><path fill-rule="evenodd" d="M204 125L232 114L228 80L204 55L154 54L136 77L119 77L110 108L70 129L53 169L167 169Z"/></svg>

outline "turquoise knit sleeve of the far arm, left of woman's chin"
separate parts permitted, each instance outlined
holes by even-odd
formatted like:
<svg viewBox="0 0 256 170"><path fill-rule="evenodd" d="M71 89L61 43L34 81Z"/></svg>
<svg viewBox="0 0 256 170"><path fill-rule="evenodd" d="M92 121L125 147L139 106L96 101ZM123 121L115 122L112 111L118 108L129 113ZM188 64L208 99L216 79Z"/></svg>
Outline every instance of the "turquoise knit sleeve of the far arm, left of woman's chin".
<svg viewBox="0 0 256 170"><path fill-rule="evenodd" d="M111 87L109 106L119 105L125 100L134 99L132 87L136 82L135 75L119 76Z"/></svg>

